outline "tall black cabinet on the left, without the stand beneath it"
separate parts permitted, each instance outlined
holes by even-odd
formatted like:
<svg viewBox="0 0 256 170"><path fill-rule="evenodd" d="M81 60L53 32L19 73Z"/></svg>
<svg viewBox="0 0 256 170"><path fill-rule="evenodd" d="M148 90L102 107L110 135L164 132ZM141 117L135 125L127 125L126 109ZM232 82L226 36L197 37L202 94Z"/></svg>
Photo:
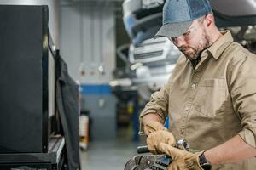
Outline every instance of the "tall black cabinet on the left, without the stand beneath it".
<svg viewBox="0 0 256 170"><path fill-rule="evenodd" d="M47 6L0 6L0 153L47 152L55 52Z"/></svg>

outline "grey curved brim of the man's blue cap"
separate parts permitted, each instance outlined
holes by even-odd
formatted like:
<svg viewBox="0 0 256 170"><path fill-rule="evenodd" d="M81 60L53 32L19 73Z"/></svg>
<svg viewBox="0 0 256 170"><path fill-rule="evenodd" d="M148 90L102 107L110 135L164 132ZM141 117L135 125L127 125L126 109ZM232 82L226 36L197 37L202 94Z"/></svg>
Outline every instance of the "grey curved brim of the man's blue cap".
<svg viewBox="0 0 256 170"><path fill-rule="evenodd" d="M185 33L191 26L193 20L185 22L177 22L172 24L166 24L160 27L160 30L155 34L157 37L178 37Z"/></svg>

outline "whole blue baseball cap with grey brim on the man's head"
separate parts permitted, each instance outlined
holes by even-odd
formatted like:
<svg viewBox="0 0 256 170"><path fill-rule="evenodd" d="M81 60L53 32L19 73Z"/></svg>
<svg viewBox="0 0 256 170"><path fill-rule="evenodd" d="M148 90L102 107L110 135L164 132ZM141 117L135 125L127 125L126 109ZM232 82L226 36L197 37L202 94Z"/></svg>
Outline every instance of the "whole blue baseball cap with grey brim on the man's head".
<svg viewBox="0 0 256 170"><path fill-rule="evenodd" d="M178 37L185 33L193 20L212 13L208 0L166 0L163 8L163 26L156 37Z"/></svg>

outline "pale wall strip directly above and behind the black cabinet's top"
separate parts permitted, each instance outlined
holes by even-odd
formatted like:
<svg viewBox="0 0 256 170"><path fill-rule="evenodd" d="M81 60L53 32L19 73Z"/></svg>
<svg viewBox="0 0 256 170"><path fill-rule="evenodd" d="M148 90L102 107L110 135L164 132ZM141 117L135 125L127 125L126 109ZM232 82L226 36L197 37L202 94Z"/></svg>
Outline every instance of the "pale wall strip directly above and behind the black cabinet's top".
<svg viewBox="0 0 256 170"><path fill-rule="evenodd" d="M59 48L59 0L0 0L0 5L48 5L49 31Z"/></svg>

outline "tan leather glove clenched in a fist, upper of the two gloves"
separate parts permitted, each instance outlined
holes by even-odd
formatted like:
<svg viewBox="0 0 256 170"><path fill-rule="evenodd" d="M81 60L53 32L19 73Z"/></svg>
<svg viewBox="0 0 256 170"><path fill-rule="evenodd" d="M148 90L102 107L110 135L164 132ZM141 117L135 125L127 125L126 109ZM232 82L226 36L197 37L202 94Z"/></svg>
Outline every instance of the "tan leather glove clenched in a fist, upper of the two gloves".
<svg viewBox="0 0 256 170"><path fill-rule="evenodd" d="M175 146L176 139L174 138L173 134L167 130L158 130L148 135L147 145L148 145L148 150L150 150L151 153L153 154L159 153L159 151L157 150L157 146L160 143L165 143L170 146Z"/></svg>

